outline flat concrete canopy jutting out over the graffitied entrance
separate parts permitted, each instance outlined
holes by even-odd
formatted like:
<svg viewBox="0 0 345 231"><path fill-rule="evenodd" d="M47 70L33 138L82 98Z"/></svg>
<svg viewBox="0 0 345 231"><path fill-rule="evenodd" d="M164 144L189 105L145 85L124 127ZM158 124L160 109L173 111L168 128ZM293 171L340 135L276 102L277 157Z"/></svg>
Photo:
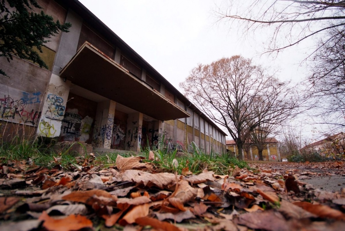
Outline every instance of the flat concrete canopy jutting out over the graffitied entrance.
<svg viewBox="0 0 345 231"><path fill-rule="evenodd" d="M60 77L157 120L190 117L88 42L60 71Z"/></svg>

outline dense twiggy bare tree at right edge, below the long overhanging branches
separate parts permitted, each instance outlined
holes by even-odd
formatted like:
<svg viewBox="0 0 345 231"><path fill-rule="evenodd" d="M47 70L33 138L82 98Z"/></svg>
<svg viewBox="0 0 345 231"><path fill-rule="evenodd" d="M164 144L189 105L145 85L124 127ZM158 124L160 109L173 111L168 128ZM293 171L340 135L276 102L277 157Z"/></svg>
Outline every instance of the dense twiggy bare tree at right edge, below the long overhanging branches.
<svg viewBox="0 0 345 231"><path fill-rule="evenodd" d="M331 129L345 127L345 28L333 28L311 67L309 97L316 102L313 114L321 116Z"/></svg>

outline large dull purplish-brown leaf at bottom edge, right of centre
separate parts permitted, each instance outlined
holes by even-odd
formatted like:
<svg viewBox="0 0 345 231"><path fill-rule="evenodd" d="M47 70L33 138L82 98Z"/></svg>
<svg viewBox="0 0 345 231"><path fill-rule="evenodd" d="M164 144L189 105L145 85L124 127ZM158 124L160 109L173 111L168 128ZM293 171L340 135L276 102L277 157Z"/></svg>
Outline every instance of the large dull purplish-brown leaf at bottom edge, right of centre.
<svg viewBox="0 0 345 231"><path fill-rule="evenodd" d="M285 218L280 213L275 212L273 210L244 213L239 215L235 222L237 224L245 225L251 229L270 231L290 230Z"/></svg>

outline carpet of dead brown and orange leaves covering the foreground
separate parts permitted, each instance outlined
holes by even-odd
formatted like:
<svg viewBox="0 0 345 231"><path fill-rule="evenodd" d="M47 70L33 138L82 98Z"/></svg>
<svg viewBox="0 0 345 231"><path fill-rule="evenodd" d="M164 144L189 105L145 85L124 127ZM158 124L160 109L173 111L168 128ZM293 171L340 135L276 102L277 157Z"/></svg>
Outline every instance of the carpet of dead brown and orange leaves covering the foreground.
<svg viewBox="0 0 345 231"><path fill-rule="evenodd" d="M344 168L344 163L338 163ZM284 170L282 170L284 171ZM316 193L292 172L156 172L142 157L73 171L0 167L0 230L344 230L345 190ZM318 191L319 192L319 191Z"/></svg>

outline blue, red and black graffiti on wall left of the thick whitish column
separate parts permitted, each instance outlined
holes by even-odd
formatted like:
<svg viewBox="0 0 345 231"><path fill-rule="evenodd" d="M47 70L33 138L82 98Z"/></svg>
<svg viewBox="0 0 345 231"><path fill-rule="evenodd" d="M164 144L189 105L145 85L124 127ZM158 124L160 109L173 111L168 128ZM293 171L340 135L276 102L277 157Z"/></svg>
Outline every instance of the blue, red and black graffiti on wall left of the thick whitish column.
<svg viewBox="0 0 345 231"><path fill-rule="evenodd" d="M41 92L28 93L23 91L21 94L20 99L14 99L10 96L0 98L1 119L37 125L42 113L39 111Z"/></svg>

